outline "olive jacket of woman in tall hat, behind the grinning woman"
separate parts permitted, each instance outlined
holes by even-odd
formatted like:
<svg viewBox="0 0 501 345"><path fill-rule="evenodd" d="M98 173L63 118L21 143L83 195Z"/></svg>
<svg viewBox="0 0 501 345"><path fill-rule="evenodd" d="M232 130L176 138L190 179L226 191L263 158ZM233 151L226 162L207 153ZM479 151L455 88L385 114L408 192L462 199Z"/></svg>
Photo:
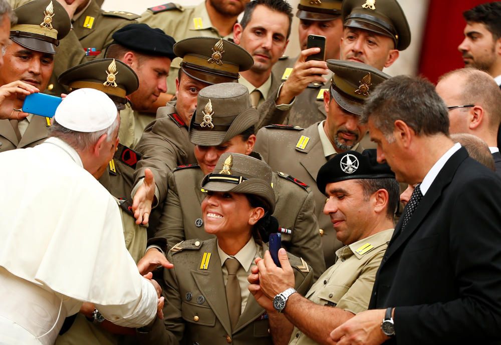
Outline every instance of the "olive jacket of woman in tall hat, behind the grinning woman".
<svg viewBox="0 0 501 345"><path fill-rule="evenodd" d="M183 240L214 237L203 229L201 203L205 193L200 188L202 179L203 172L198 165L169 173L167 199L155 237L148 241L148 245L156 244L166 250L166 244L170 248ZM313 193L310 188L293 182L293 179L283 173L273 174L276 199L273 216L282 228L292 231L291 234L282 233L286 250L305 259L313 267L317 278L324 272L325 263L318 250L321 239L314 214Z"/></svg>

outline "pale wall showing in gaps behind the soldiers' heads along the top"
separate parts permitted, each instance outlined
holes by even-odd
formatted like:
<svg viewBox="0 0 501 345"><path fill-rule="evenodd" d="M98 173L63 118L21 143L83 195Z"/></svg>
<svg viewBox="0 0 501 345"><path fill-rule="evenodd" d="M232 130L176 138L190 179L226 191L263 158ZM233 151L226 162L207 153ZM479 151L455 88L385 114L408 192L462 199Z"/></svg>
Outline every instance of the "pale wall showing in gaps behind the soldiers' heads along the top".
<svg viewBox="0 0 501 345"><path fill-rule="evenodd" d="M182 6L198 5L203 0L105 0L103 4L104 10L123 10L132 13L142 14L147 8L162 5L169 2L175 2ZM426 10L429 0L399 0L412 33L411 45L405 51L400 53L400 58L384 72L389 75L396 76L399 74L415 74L421 49L421 38L425 24ZM294 9L297 8L299 0L289 0ZM294 11L296 13L296 10ZM289 56L297 56L299 52L299 43L297 39L299 20L295 17L293 21L293 29L291 34L291 42L286 54Z"/></svg>

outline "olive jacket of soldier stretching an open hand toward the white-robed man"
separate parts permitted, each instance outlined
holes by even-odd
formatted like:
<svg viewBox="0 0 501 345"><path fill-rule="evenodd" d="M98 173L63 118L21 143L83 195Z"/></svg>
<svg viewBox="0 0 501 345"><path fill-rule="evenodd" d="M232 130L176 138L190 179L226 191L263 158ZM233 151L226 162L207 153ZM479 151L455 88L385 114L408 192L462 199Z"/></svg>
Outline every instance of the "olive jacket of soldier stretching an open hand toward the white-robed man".
<svg viewBox="0 0 501 345"><path fill-rule="evenodd" d="M144 177L145 168L151 169L158 188L157 200L162 203L167 196L167 174L179 165L196 164L193 148L188 126L176 115L176 101L158 108L156 120L145 128L137 145L143 158L137 164L134 184Z"/></svg>

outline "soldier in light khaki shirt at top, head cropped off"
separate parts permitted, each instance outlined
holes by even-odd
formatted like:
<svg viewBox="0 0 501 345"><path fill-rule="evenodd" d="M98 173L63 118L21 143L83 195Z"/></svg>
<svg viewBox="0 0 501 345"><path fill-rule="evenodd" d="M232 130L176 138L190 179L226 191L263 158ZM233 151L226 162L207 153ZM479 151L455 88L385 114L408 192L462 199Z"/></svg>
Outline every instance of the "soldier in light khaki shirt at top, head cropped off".
<svg viewBox="0 0 501 345"><path fill-rule="evenodd" d="M213 0L201 1L197 6L168 3L149 8L141 15L139 22L148 24L152 28L162 29L176 41L201 36L233 41L233 25L247 2L248 0L241 0L239 4L234 4L227 11L221 11L219 6L214 6ZM207 8L210 8L211 15L209 15ZM172 61L167 77L167 93L170 95L167 98L161 97L164 103L160 106L163 106L174 96L180 63L180 59Z"/></svg>

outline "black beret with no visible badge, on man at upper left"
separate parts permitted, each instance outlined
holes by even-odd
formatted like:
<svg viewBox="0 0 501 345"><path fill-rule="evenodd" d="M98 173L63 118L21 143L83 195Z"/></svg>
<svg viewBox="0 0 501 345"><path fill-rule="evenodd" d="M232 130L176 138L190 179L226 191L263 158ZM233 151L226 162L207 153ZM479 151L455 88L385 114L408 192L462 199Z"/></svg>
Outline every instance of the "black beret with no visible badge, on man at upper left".
<svg viewBox="0 0 501 345"><path fill-rule="evenodd" d="M117 43L132 51L145 55L164 56L173 60L176 41L160 29L153 29L146 24L129 24L117 30L113 36Z"/></svg>

